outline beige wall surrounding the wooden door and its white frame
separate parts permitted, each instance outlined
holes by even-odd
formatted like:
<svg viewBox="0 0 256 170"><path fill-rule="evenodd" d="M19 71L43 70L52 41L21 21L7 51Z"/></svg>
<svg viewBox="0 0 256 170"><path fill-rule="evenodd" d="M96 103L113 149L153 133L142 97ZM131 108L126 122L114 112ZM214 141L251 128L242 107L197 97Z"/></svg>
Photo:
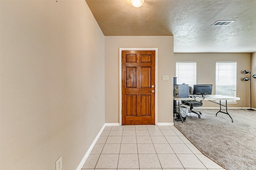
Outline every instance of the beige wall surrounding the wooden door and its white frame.
<svg viewBox="0 0 256 170"><path fill-rule="evenodd" d="M105 37L106 123L119 123L119 48L158 48L158 122L173 122L173 45L173 36Z"/></svg>

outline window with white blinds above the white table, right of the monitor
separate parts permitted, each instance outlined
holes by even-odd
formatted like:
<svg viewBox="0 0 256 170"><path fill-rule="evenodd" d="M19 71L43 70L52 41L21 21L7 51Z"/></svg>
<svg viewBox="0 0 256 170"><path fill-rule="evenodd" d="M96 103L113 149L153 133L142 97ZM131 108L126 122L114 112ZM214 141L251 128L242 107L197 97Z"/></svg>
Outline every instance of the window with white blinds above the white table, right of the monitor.
<svg viewBox="0 0 256 170"><path fill-rule="evenodd" d="M236 97L236 62L216 62L216 94Z"/></svg>

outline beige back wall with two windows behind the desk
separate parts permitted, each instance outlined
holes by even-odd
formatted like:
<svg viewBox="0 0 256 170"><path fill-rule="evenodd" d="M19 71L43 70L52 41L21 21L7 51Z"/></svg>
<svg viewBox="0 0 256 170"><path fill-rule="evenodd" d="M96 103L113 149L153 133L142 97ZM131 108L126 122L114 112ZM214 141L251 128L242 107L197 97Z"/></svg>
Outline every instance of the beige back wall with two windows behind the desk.
<svg viewBox="0 0 256 170"><path fill-rule="evenodd" d="M236 61L237 62L237 82L236 96L244 99L245 107L250 106L250 83L244 82L247 75L244 70L251 68L250 53L174 53L174 75L176 75L176 61L196 61L196 81L197 84L213 84L212 94L215 94L215 64L216 61ZM189 68L188 68L189 70ZM237 104L230 104L229 107L242 107L244 103L237 101ZM204 101L203 107L218 107L209 101Z"/></svg>

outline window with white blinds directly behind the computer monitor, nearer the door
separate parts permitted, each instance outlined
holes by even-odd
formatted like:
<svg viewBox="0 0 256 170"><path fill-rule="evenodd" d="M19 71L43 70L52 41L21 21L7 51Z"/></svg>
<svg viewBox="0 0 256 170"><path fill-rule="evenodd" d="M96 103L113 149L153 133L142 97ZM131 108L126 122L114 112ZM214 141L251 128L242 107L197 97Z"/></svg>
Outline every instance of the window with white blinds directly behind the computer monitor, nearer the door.
<svg viewBox="0 0 256 170"><path fill-rule="evenodd" d="M188 84L192 88L196 84L196 62L176 62L177 84Z"/></svg>

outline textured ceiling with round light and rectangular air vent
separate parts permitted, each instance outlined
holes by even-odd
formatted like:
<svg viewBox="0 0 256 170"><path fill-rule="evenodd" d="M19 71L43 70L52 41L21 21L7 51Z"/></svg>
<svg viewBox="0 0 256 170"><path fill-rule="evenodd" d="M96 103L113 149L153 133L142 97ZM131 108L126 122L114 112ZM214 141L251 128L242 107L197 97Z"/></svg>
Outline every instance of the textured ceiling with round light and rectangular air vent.
<svg viewBox="0 0 256 170"><path fill-rule="evenodd" d="M174 35L174 53L256 52L256 0L86 0L106 36ZM211 26L235 20L228 26Z"/></svg>

